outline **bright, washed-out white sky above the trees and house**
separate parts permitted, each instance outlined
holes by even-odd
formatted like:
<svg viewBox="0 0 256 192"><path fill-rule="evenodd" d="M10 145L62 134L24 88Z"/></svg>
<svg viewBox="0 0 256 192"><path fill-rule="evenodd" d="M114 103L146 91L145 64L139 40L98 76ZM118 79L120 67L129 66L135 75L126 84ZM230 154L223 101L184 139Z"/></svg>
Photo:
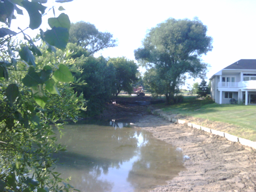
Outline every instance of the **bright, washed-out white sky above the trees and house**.
<svg viewBox="0 0 256 192"><path fill-rule="evenodd" d="M58 7L63 6L71 22L83 20L101 32L113 34L118 47L104 49L94 56L124 56L135 60L134 49L142 46L152 27L171 17L190 20L198 17L207 26L207 35L213 38L212 51L202 56L211 66L207 79L240 59L256 59L256 0L73 0L68 3L48 0L47 6L56 7L56 17L61 13ZM48 15L53 17L52 11L44 20ZM22 22L26 26L29 21L24 18ZM19 20L15 22L20 24ZM42 26L46 27L49 28Z"/></svg>

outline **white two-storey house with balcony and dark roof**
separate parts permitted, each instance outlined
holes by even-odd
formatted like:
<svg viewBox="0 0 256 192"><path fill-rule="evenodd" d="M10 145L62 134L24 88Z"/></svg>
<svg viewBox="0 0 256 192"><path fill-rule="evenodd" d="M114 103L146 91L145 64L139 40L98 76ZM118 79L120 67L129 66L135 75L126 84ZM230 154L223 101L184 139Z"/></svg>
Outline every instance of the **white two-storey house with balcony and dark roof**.
<svg viewBox="0 0 256 192"><path fill-rule="evenodd" d="M211 78L211 97L219 104L256 105L256 59L241 59Z"/></svg>

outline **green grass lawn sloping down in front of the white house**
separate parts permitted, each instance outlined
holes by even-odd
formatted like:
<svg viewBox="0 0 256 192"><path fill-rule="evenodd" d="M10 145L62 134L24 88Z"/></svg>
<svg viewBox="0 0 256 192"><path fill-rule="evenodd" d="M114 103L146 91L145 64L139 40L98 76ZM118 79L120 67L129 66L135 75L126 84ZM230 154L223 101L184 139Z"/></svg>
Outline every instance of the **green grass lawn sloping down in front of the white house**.
<svg viewBox="0 0 256 192"><path fill-rule="evenodd" d="M183 103L164 106L163 111L229 123L240 129L231 130L230 134L235 133L238 137L256 141L256 105L219 105L210 100L196 100L193 96L185 96ZM248 134L244 134L244 131Z"/></svg>

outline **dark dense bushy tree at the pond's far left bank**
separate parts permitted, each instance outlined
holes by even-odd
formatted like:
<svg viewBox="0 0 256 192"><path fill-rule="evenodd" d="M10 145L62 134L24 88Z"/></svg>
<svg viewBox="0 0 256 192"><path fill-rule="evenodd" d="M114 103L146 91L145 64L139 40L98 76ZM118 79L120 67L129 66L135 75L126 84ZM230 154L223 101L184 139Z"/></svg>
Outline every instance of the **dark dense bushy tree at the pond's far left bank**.
<svg viewBox="0 0 256 192"><path fill-rule="evenodd" d="M115 69L112 65L107 65L107 60L102 56L76 58L76 66L81 68L82 73L76 73L76 79L84 81L84 85L75 85L75 91L83 93L87 101L88 116L99 114L105 108L105 103L109 102L114 90Z"/></svg>

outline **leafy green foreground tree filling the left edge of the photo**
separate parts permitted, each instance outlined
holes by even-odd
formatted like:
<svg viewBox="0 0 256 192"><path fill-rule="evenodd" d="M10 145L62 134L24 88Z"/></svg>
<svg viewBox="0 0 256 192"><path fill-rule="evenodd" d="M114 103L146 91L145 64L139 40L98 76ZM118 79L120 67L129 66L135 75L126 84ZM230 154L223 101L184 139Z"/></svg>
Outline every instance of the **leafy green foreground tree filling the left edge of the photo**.
<svg viewBox="0 0 256 192"><path fill-rule="evenodd" d="M64 150L55 143L53 125L61 129L67 119L76 121L79 110L84 109L83 95L78 96L70 86L76 83L71 71L78 69L72 65L71 52L66 49L69 17L61 13L49 18L51 29L38 30L40 35L36 38L30 38L25 33L27 28L22 30L19 26L24 39L15 41L17 32L9 29L15 10L19 15L27 11L29 28L38 29L44 13L54 9L42 3L47 0L0 1L0 22L5 24L0 28L0 191L3 192L60 192L71 187L66 183L59 185L62 179L52 170L56 161L52 154ZM38 45L40 41L41 45L36 46L35 42Z"/></svg>

